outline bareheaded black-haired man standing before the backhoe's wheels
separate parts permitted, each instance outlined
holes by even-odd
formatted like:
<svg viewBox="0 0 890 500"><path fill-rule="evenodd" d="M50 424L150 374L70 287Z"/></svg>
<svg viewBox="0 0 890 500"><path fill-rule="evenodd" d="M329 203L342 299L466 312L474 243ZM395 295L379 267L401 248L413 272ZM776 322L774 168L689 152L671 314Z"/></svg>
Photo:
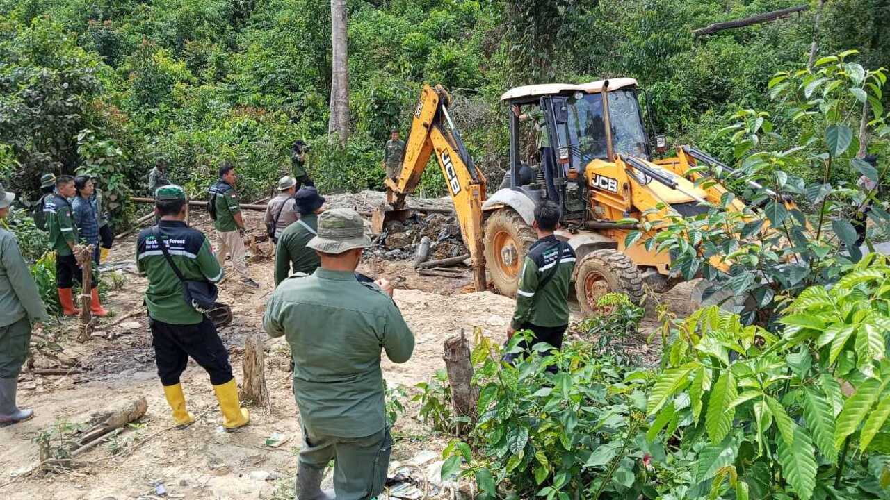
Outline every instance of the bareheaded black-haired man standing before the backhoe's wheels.
<svg viewBox="0 0 890 500"><path fill-rule="evenodd" d="M525 256L516 311L507 329L508 337L516 330L531 330L532 344L548 343L556 349L562 347L562 335L569 326L569 286L575 269L575 252L554 236L560 214L559 206L549 200L535 207L532 225L538 241L531 244ZM522 345L530 351L531 345Z"/></svg>

